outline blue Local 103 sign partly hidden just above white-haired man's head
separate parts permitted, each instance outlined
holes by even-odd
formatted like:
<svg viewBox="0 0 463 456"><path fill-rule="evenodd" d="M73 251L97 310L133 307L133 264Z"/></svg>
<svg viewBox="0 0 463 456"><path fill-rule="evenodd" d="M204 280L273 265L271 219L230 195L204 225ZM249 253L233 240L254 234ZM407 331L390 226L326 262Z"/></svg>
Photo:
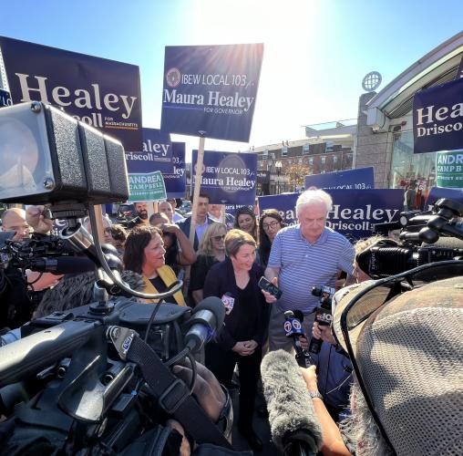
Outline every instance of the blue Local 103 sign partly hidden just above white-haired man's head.
<svg viewBox="0 0 463 456"><path fill-rule="evenodd" d="M358 170L345 170L325 172L305 176L305 189L316 187L317 189L348 189L366 190L375 188L375 176L373 167L359 168Z"/></svg>

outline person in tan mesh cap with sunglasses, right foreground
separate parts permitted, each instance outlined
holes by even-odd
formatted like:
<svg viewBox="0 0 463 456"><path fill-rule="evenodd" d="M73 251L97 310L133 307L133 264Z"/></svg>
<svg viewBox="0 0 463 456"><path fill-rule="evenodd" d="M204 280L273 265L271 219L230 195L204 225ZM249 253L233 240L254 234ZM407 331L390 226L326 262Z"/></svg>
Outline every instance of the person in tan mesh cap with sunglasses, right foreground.
<svg viewBox="0 0 463 456"><path fill-rule="evenodd" d="M334 296L334 336L355 369L337 428L302 369L323 454L462 454L463 262L424 264ZM339 293L339 292L338 292Z"/></svg>

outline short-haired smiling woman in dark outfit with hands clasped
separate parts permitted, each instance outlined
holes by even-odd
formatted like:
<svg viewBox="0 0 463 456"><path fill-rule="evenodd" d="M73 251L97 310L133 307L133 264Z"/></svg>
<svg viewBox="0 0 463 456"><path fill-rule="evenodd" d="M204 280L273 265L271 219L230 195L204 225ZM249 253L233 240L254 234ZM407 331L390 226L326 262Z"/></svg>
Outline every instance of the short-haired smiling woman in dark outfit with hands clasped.
<svg viewBox="0 0 463 456"><path fill-rule="evenodd" d="M257 285L263 275L254 262L256 244L249 233L231 230L225 236L224 261L214 264L204 283L204 297L218 296L226 308L225 324L206 346L206 366L226 387L235 365L240 369L238 429L253 450L262 441L252 430L252 413L260 376L262 343L267 326L266 303Z"/></svg>

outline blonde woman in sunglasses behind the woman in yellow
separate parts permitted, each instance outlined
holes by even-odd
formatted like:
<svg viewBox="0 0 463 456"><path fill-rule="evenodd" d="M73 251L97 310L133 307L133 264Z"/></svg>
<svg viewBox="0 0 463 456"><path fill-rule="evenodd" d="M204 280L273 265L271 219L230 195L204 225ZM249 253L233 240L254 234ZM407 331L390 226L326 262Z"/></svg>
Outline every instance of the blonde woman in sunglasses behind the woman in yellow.
<svg viewBox="0 0 463 456"><path fill-rule="evenodd" d="M211 267L225 259L226 233L225 224L214 222L201 237L198 255L190 273L190 293L195 305L203 299L202 288Z"/></svg>

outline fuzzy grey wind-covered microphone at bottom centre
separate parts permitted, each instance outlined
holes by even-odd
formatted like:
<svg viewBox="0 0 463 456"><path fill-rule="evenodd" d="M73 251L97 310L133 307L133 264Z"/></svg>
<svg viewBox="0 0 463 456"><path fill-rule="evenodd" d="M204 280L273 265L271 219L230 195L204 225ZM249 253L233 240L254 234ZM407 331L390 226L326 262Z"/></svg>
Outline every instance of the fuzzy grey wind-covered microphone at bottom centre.
<svg viewBox="0 0 463 456"><path fill-rule="evenodd" d="M323 437L312 399L294 358L283 350L262 359L263 395L275 445L285 456L316 454Z"/></svg>

